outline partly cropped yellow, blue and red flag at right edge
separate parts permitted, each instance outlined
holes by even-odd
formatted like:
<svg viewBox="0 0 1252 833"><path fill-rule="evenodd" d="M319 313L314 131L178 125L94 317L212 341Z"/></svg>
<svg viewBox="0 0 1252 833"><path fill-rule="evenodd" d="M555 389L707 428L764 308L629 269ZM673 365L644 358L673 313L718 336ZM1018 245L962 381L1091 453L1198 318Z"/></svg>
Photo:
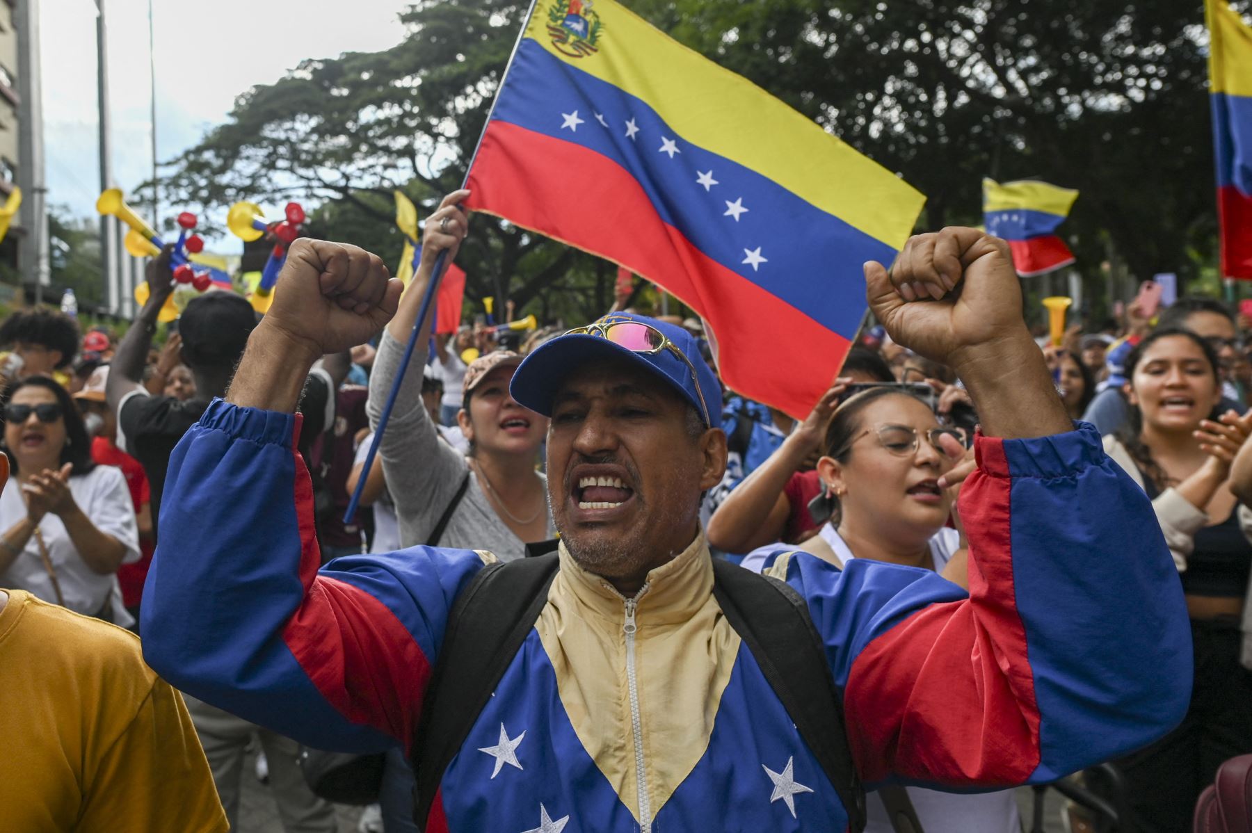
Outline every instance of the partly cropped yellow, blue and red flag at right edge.
<svg viewBox="0 0 1252 833"><path fill-rule="evenodd" d="M1207 0L1204 16L1222 274L1252 278L1252 29L1226 0Z"/></svg>

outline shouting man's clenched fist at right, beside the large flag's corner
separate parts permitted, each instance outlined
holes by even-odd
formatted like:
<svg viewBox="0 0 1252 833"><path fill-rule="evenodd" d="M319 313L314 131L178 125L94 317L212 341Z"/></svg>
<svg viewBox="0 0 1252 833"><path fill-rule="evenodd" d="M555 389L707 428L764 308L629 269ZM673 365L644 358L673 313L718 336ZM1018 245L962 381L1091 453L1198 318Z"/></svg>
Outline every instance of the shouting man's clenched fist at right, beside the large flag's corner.
<svg viewBox="0 0 1252 833"><path fill-rule="evenodd" d="M870 309L891 339L953 368L970 354L1029 340L1008 244L947 228L904 244L891 269L865 264Z"/></svg>

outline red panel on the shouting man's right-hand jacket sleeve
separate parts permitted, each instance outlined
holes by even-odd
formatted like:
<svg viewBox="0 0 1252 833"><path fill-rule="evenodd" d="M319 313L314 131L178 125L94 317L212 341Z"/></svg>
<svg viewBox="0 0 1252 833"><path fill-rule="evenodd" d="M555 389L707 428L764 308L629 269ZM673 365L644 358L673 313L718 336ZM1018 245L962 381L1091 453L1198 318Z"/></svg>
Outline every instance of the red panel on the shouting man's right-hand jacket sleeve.
<svg viewBox="0 0 1252 833"><path fill-rule="evenodd" d="M853 663L848 725L868 782L898 773L1008 785L1039 765L1039 707L1017 612L1003 443L979 438L978 459L980 469L960 495L970 533L970 598L914 613Z"/></svg>

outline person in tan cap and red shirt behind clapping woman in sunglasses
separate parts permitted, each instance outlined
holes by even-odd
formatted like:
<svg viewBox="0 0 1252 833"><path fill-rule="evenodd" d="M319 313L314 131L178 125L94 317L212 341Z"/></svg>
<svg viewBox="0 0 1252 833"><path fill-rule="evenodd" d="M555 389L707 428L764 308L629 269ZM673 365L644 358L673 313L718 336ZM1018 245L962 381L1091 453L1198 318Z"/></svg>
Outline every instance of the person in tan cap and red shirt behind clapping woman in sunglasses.
<svg viewBox="0 0 1252 833"><path fill-rule="evenodd" d="M94 333L99 335L99 333ZM93 335L89 333L88 335ZM144 579L153 560L153 513L151 492L148 477L139 460L123 452L116 445L118 420L109 410L105 388L109 381L109 365L96 368L88 378L83 389L74 394L74 403L83 411L86 433L91 438L91 459L100 465L111 465L121 472L130 492L130 503L135 510L135 528L139 533L139 560L118 568L118 585L121 590L121 604L126 613L139 620L139 604L144 593Z"/></svg>

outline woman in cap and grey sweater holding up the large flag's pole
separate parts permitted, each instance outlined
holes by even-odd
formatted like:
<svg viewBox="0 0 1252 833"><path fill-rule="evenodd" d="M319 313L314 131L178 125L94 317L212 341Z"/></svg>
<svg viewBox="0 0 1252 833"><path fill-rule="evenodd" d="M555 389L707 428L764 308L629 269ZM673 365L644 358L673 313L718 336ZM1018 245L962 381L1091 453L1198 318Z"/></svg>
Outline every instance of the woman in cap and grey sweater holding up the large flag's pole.
<svg viewBox="0 0 1252 833"><path fill-rule="evenodd" d="M427 220L418 271L378 341L368 403L374 427L391 394L434 259L444 249L454 258L464 238L466 219L457 208L463 196L463 191L451 194ZM527 544L552 538L553 532L547 483L536 470L547 419L523 408L508 391L522 356L495 350L470 363L457 390L457 423L470 443L468 454L439 442L437 422L422 399L432 318L422 323L417 350L378 447L401 547L467 547L490 549L505 560L522 558ZM444 515L439 538L433 540Z"/></svg>

